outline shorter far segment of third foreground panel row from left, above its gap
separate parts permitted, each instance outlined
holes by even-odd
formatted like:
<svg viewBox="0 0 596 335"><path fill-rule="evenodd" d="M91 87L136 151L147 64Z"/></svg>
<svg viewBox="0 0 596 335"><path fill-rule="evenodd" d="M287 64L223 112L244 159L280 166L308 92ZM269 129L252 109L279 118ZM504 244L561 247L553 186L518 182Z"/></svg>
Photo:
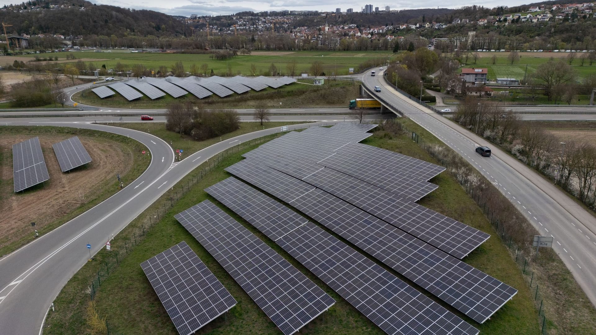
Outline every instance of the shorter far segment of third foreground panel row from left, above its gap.
<svg viewBox="0 0 596 335"><path fill-rule="evenodd" d="M274 241L308 222L303 216L234 177L205 191Z"/></svg>

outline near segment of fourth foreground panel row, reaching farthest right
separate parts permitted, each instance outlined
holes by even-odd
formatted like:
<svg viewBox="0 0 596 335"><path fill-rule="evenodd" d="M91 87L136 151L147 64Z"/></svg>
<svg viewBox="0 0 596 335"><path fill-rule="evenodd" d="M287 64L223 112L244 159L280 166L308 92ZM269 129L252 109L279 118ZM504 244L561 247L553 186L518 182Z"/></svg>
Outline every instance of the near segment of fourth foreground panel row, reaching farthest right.
<svg viewBox="0 0 596 335"><path fill-rule="evenodd" d="M290 204L476 322L488 320L517 293L325 191L313 190Z"/></svg>

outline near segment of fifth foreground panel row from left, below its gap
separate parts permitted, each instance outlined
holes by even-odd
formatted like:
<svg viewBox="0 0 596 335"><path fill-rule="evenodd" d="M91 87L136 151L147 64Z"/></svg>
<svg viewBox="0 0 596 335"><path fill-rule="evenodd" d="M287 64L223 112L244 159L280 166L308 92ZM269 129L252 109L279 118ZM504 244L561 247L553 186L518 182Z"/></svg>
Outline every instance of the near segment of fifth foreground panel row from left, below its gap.
<svg viewBox="0 0 596 335"><path fill-rule="evenodd" d="M486 232L336 170L324 168L304 178L304 181L460 259L491 237Z"/></svg>

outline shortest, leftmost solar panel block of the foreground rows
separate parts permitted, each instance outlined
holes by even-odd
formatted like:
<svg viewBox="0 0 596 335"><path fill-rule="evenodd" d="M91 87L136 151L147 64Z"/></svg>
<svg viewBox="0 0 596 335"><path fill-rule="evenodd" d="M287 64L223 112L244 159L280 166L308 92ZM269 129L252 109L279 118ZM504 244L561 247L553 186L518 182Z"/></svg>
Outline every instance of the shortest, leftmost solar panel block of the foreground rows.
<svg viewBox="0 0 596 335"><path fill-rule="evenodd" d="M141 268L181 335L193 334L236 305L184 241L145 260Z"/></svg>

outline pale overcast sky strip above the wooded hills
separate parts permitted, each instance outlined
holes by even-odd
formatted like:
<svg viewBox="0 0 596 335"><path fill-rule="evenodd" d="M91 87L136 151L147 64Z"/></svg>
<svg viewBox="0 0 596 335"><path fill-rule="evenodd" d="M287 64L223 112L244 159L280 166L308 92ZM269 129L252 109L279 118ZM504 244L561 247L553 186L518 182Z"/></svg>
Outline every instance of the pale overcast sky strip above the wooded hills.
<svg viewBox="0 0 596 335"><path fill-rule="evenodd" d="M383 0L387 1L387 0ZM378 7L380 10L384 10L385 6L389 5L392 10L411 10L415 8L460 8L469 5L473 5L472 2L465 2L462 0L421 0L421 1L405 1L398 0L397 2L362 2L362 4L356 3L340 3L327 5L322 4L320 0L259 0L259 1L246 1L246 0L140 0L134 2L125 2L122 0L91 0L91 2L103 5L113 5L124 8L135 8L135 9L146 9L159 11L170 15L182 15L190 16L191 14L197 15L225 15L234 14L240 11L282 11L282 10L318 10L318 11L334 11L336 8L341 8L342 11L346 11L347 8L353 8L354 11L360 11L365 4L372 4L373 8ZM533 1L515 1L515 0L485 0L479 1L485 7L496 7L498 5L516 6L523 3L530 3ZM0 4L11 4L18 3L13 1L0 0Z"/></svg>

